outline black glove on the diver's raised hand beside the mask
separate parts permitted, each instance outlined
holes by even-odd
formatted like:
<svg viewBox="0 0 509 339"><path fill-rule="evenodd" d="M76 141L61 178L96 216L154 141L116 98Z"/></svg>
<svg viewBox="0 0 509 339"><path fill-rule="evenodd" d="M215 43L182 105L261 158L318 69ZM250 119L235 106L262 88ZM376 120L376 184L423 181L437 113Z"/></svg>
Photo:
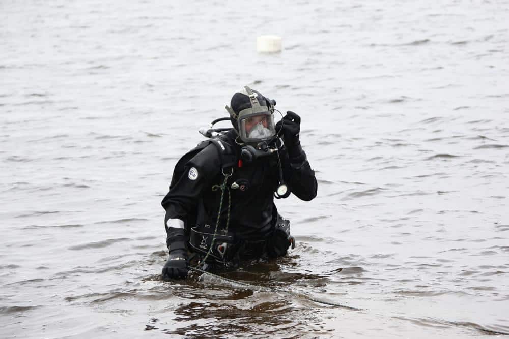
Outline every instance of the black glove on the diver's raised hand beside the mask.
<svg viewBox="0 0 509 339"><path fill-rule="evenodd" d="M291 162L303 162L306 159L306 153L302 150L299 140L300 116L287 111L287 114L276 124L276 131L279 129L281 129Z"/></svg>

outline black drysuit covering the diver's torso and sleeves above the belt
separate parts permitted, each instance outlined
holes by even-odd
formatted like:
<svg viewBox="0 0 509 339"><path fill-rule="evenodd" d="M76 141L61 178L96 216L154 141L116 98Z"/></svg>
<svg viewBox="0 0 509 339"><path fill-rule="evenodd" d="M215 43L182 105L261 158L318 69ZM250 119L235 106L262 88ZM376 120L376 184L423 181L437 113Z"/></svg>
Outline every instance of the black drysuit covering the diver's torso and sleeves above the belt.
<svg viewBox="0 0 509 339"><path fill-rule="evenodd" d="M280 181L277 155L273 153L252 163L244 162L239 167L241 146L236 144L236 136L231 130L220 137L219 142L212 140L195 155L191 154L192 158L185 162L183 171L177 168L179 165L176 166L170 190L161 203L166 210L165 222L168 219L184 221L187 236L190 228L197 225L211 225L213 230L221 200L221 190L217 187L213 190L213 186L223 183L224 173L231 173L227 179L231 194L229 231L234 233L236 240L258 240L270 236L277 216L273 196ZM230 153L229 165L233 166L222 168L227 162L222 152ZM279 156L284 181L291 192L305 201L315 198L317 180L305 153L293 159L298 160L297 163L290 161L285 150L279 151ZM234 188L233 183L237 184ZM218 229L227 224L228 208L228 192L225 191ZM167 244L171 245L171 241L169 236Z"/></svg>

